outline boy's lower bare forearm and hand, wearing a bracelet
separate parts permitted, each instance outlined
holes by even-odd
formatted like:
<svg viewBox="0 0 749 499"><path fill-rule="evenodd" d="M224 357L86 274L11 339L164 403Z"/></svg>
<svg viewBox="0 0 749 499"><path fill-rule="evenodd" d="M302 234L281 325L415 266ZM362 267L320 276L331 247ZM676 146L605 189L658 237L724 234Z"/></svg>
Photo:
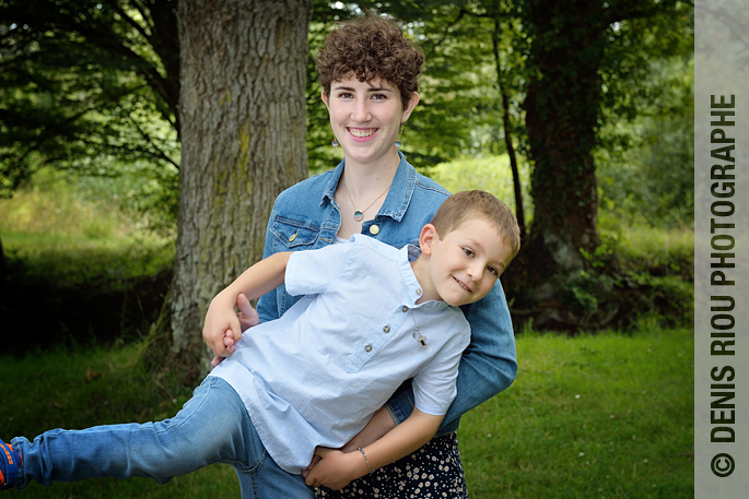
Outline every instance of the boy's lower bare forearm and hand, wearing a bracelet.
<svg viewBox="0 0 749 499"><path fill-rule="evenodd" d="M336 449L317 448L315 453L321 460L312 467L305 483L308 486L339 490L351 480L422 448L434 437L443 417L413 408L408 419L376 442L363 448L364 453L359 449L343 453Z"/></svg>

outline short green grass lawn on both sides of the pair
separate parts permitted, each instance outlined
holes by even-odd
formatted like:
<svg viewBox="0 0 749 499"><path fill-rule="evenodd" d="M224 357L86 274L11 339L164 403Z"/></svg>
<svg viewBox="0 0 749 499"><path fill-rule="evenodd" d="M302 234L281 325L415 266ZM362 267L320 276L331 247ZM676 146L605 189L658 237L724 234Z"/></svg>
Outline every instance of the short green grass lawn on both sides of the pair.
<svg viewBox="0 0 749 499"><path fill-rule="evenodd" d="M0 437L164 418L189 396L138 363L142 345L0 357ZM472 499L693 497L693 336L526 332L503 394L468 414L458 438ZM33 484L24 498L238 497L229 466L151 479Z"/></svg>

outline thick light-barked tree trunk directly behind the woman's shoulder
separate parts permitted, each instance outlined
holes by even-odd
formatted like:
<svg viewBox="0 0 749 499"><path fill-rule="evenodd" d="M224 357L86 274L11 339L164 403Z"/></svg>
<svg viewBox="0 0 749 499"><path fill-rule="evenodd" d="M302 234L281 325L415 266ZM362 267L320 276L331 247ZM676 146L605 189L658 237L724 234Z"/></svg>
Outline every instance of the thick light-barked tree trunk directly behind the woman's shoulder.
<svg viewBox="0 0 749 499"><path fill-rule="evenodd" d="M307 175L312 0L180 0L182 163L172 352L208 359L213 296L262 257L279 192ZM203 364L203 366L207 366Z"/></svg>

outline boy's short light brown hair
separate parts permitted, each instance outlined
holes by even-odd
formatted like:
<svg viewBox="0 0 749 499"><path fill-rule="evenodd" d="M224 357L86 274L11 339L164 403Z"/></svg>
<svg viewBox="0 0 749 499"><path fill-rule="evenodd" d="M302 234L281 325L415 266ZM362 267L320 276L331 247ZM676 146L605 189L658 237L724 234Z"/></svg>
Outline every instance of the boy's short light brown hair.
<svg viewBox="0 0 749 499"><path fill-rule="evenodd" d="M484 191L464 191L450 195L434 214L431 224L441 238L470 218L493 224L515 258L520 250L520 227L513 212L502 201Z"/></svg>

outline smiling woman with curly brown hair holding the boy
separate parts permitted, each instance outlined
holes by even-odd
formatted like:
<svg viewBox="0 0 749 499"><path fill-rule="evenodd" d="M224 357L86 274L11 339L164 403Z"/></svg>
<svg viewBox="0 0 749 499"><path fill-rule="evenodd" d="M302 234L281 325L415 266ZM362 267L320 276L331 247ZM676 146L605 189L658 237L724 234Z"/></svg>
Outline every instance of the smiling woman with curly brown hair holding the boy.
<svg viewBox="0 0 749 499"><path fill-rule="evenodd" d="M419 103L418 74L423 60L397 25L375 15L343 24L328 36L316 63L323 102L330 115L332 145L343 150L344 159L335 170L278 197L268 223L265 257L344 243L360 233L397 248L418 243L421 227L449 195L419 175L399 151L400 126ZM297 298L289 296L283 286L264 296L258 302L260 320L277 319ZM342 491L325 489L319 496L393 498L431 492L431 497L468 497L455 435L459 418L506 389L515 378L517 363L501 286L464 312L471 324L471 344L460 361L457 397L437 437L419 452ZM410 396L410 388L403 387L344 450L365 448L405 420L412 409ZM314 466L308 473L314 475Z"/></svg>

